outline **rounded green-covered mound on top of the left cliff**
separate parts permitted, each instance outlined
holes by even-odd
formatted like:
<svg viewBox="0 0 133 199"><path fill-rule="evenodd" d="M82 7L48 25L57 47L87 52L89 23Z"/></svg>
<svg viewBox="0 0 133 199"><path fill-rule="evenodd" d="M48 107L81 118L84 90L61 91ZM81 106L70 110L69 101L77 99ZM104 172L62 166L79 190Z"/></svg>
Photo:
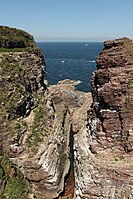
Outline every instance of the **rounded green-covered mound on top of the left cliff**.
<svg viewBox="0 0 133 199"><path fill-rule="evenodd" d="M4 52L39 52L34 38L29 33L16 28L0 26L0 53Z"/></svg>

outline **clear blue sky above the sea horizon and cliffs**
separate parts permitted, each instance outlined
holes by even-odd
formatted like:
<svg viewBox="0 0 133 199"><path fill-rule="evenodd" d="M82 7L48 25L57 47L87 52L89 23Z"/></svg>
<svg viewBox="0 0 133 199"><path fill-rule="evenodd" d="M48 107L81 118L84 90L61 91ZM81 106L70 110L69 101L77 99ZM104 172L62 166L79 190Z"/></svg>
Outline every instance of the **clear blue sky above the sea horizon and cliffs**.
<svg viewBox="0 0 133 199"><path fill-rule="evenodd" d="M103 41L133 36L133 0L1 0L0 25L36 41Z"/></svg>

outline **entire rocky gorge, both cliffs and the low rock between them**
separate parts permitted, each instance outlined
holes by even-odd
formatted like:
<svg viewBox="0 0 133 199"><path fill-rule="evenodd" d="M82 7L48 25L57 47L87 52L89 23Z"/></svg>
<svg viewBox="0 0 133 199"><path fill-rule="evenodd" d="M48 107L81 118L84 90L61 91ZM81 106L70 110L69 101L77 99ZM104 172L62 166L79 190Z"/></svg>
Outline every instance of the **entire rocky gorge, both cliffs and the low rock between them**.
<svg viewBox="0 0 133 199"><path fill-rule="evenodd" d="M133 198L133 43L104 43L92 94L47 87L28 33L0 26L0 198Z"/></svg>

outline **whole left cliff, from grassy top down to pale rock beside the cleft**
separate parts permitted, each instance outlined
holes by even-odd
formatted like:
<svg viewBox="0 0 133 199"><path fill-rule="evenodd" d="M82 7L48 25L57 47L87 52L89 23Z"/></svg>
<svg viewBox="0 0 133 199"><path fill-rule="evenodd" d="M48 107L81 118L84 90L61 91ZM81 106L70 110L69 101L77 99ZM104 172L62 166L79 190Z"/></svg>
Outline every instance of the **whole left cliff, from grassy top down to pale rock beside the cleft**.
<svg viewBox="0 0 133 199"><path fill-rule="evenodd" d="M68 108L51 100L33 37L0 32L0 197L58 197L70 167Z"/></svg>

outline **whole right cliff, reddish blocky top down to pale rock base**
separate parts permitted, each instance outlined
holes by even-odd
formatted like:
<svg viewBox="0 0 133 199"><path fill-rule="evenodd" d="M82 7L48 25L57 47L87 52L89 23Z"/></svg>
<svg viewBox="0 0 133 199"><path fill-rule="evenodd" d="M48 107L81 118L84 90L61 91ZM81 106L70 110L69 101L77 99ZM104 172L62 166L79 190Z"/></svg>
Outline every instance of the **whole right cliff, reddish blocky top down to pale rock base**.
<svg viewBox="0 0 133 199"><path fill-rule="evenodd" d="M87 131L75 135L75 197L133 198L133 43L104 43ZM81 142L82 140L82 142Z"/></svg>

